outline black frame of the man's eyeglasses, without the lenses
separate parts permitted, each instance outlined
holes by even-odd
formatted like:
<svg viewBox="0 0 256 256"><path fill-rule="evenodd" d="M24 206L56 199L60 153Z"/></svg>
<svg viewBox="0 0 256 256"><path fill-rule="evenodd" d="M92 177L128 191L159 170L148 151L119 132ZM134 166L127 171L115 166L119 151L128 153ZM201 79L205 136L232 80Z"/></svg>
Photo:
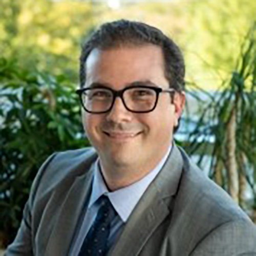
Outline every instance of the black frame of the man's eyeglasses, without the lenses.
<svg viewBox="0 0 256 256"><path fill-rule="evenodd" d="M154 90L154 91L156 92L156 101L155 101L155 105L153 106L153 108L152 108L151 110L147 110L147 111L134 111L134 110L129 109L129 108L126 106L125 101L124 101L124 99L123 99L123 93L124 93L125 91L127 91L127 90L129 90L129 89L133 89L133 88L152 89L152 90ZM109 91L112 92L112 94L113 94L113 100L112 100L112 104L110 105L110 107L108 108L108 110L100 111L100 112L94 112L94 111L89 111L88 109L86 109L86 107L85 107L84 104L83 104L82 94L83 94L84 92L88 91L88 90L91 90L91 89L106 89L106 90L109 90ZM109 88L109 87L104 87L104 86L97 86L97 87L93 87L93 88L87 87L87 88L82 88L82 89L76 90L76 94L79 95L80 102L81 102L81 104L82 104L83 109L84 109L86 112L91 113L91 114L104 114L104 113L110 112L110 111L112 110L112 108L113 108L113 105L114 105L115 100L116 100L117 97L120 97L120 98L121 98L121 100L122 100L122 102L123 102L123 105L124 105L124 107L125 107L126 110L128 110L128 111L130 111L130 112L132 112L132 113L149 113L149 112L152 112L152 111L156 108L157 102L158 102L158 98L159 98L159 94L160 94L160 93L165 93L165 92L166 92L166 93L173 93L173 94L174 94L174 93L176 92L176 90L173 89L173 88L162 89L162 88L160 88L160 87L153 87L153 86L129 86L129 87L125 87L124 89L118 90L118 91L116 91L116 90L114 90L114 89L112 89L112 88ZM173 103L173 97L172 97L172 103Z"/></svg>

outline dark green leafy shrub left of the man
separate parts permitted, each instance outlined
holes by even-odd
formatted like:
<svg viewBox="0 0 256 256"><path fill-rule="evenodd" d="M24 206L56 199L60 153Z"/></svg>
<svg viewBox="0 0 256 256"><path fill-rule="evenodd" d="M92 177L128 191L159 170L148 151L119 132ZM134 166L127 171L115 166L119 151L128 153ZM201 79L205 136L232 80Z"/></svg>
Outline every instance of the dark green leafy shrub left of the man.
<svg viewBox="0 0 256 256"><path fill-rule="evenodd" d="M39 166L55 151L89 145L75 86L0 59L0 246L15 236Z"/></svg>

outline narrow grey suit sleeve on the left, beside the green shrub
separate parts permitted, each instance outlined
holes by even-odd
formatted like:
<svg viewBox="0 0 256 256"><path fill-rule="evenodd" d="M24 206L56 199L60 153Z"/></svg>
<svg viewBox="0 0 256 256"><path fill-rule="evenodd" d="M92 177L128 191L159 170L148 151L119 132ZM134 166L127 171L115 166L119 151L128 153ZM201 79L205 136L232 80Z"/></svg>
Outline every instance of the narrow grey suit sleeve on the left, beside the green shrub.
<svg viewBox="0 0 256 256"><path fill-rule="evenodd" d="M56 154L53 154L50 156L46 162L41 166L39 169L31 190L29 199L24 207L23 210L23 219L20 224L20 227L18 229L16 238L7 247L7 250L5 252L5 256L18 256L18 255L26 255L26 256L32 256L34 255L34 239L33 239L33 227L32 227L32 218L33 218L33 202L35 198L35 194L38 188L38 185L40 184L41 177L44 175L45 170L47 169L47 166L52 161L52 159L55 157Z"/></svg>

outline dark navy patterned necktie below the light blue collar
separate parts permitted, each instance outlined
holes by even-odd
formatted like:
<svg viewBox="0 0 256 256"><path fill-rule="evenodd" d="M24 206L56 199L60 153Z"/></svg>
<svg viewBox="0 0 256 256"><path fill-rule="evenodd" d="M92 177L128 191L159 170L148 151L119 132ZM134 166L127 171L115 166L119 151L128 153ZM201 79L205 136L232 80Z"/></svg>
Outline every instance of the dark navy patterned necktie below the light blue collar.
<svg viewBox="0 0 256 256"><path fill-rule="evenodd" d="M78 256L103 256L108 252L107 242L110 234L110 224L117 212L108 197L101 196L99 200L101 207L83 241Z"/></svg>

